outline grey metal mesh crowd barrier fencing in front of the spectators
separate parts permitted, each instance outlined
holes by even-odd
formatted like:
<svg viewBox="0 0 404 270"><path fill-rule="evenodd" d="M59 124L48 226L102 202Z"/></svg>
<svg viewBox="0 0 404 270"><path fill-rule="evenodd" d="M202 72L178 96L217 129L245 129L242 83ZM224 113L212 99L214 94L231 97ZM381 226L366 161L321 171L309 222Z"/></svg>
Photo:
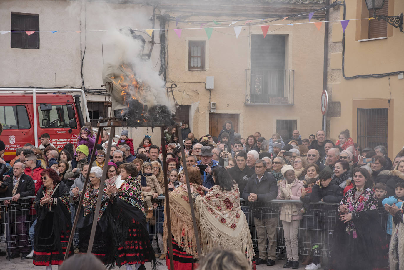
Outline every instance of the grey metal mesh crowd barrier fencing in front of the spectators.
<svg viewBox="0 0 404 270"><path fill-rule="evenodd" d="M34 199L34 196L20 198L22 199ZM164 223L164 196L159 196L157 208L154 210L154 217L149 222L149 235L152 241L152 246L155 248L156 253L160 250L162 251L162 232ZM29 209L32 208L32 200L25 204L13 204L4 205L4 200L11 200L11 198L0 198L0 240L1 236L6 236L5 242L0 242L0 249L13 249L21 247L31 247L32 243L29 237L29 228L36 219L36 215L30 215ZM316 202L310 204L303 204L299 200L272 200L270 202L264 203L259 206L257 203L246 202L240 199L240 204L244 214L246 215L248 225L250 227L250 232L252 236L252 241L256 254L261 247L261 250L269 250L268 241L259 241L257 236L257 231L265 231L264 226L255 225L255 215L264 214L276 217L275 222L275 248L277 257L286 257L285 240L284 240L284 230L282 226L282 221L279 218L279 212L282 205L285 203L293 203L297 205L297 209L304 213L301 214L301 219L299 219L298 227L295 228L298 231L297 245L299 255L311 255L313 253L313 247L318 245L317 251L319 255L330 256L330 251L332 249L332 237L333 230L335 227L335 222L337 218L337 205L329 204L324 202ZM23 213L19 210L15 210L15 206L23 206L27 209ZM71 203L72 221L74 219L76 206ZM24 218L19 218L17 216L25 216ZM387 227L387 219L389 213L384 210L384 208L379 208L379 217L384 230ZM23 234L17 233L17 228L23 228ZM268 229L268 228L267 228ZM262 234L261 234L262 235ZM262 236L261 236L262 237ZM387 242L390 241L390 236L386 234ZM4 239L3 239L4 240ZM261 242L261 245L259 244ZM265 243L265 247L263 244ZM76 230L74 235L74 246L78 244L78 232ZM10 251L10 250L9 250Z"/></svg>

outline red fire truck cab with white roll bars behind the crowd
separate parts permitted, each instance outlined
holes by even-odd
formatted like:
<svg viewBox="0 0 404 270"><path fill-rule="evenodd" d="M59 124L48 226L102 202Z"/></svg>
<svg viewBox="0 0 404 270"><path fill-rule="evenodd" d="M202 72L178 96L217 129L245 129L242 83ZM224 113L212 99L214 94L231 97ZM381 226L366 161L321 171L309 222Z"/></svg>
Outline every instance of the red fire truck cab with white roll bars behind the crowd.
<svg viewBox="0 0 404 270"><path fill-rule="evenodd" d="M76 146L78 132L84 125L81 106L89 121L82 89L0 89L0 122L3 125L0 139L6 145L4 160L13 159L15 150L26 143L38 147L40 135L44 133L50 135L50 142L59 151L67 143Z"/></svg>

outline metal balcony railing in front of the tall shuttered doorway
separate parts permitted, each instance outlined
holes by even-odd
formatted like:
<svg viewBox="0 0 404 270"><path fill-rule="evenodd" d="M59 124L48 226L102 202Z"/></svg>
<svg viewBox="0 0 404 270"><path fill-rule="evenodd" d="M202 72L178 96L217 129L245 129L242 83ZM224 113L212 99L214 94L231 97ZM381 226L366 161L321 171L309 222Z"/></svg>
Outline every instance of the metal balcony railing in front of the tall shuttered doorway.
<svg viewBox="0 0 404 270"><path fill-rule="evenodd" d="M246 105L293 105L295 70L246 70Z"/></svg>

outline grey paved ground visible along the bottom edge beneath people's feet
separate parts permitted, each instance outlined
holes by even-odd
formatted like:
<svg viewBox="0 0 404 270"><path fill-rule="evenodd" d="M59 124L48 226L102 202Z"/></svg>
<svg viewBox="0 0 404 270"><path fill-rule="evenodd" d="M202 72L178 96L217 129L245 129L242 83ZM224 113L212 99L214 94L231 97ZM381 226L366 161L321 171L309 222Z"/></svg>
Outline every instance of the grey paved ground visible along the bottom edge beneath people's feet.
<svg viewBox="0 0 404 270"><path fill-rule="evenodd" d="M157 269L158 270L166 270L166 263L165 260L158 260L160 262L164 262L164 264L162 266L158 266ZM282 261L277 261L277 264L274 266L266 266L264 265L259 265L257 266L257 270L281 270L284 269L282 266L284 264L284 260ZM33 270L45 270L44 266L34 266L34 264L32 264L32 259L25 259L25 260L21 260L20 258L15 258L12 260L7 260L6 256L0 256L0 269L2 270L28 270L28 269L33 269ZM54 270L57 270L57 266L53 266ZM90 269L90 268L89 268ZM122 268L124 270L124 268ZM146 269L151 269L151 265L150 264L146 264ZM299 269L304 269L303 266L300 266Z"/></svg>

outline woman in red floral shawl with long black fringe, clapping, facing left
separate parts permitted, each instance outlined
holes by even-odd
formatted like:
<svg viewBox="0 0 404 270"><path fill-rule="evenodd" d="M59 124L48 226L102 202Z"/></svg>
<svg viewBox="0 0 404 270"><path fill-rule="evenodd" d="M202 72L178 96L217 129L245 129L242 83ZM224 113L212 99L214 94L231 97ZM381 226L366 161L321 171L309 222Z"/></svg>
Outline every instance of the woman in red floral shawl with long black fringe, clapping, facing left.
<svg viewBox="0 0 404 270"><path fill-rule="evenodd" d="M125 265L126 270L132 270L132 265L145 270L145 261L151 261L152 269L156 269L136 165L124 163L119 168L121 179L114 186L107 186L107 195L112 202L107 210L108 234L112 238L116 265Z"/></svg>

